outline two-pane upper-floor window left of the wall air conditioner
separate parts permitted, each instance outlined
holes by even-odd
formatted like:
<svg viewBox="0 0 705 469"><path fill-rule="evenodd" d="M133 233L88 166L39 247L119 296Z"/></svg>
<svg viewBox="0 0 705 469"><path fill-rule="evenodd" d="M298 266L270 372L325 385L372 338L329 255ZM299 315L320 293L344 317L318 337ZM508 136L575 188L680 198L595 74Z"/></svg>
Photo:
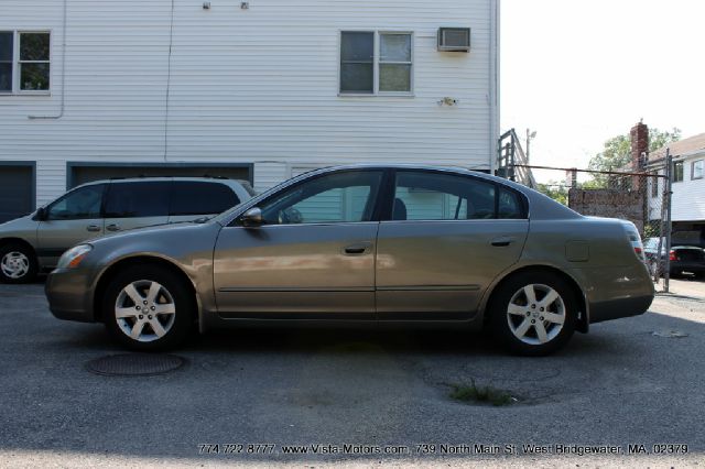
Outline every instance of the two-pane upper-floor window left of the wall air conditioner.
<svg viewBox="0 0 705 469"><path fill-rule="evenodd" d="M340 34L340 94L410 95L411 33L345 31Z"/></svg>

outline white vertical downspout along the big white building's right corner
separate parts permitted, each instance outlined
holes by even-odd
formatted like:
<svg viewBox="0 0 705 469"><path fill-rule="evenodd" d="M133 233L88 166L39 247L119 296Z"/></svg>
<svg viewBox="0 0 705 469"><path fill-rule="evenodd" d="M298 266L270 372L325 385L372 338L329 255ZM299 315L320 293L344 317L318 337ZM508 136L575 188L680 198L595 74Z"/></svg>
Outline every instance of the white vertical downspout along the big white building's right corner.
<svg viewBox="0 0 705 469"><path fill-rule="evenodd" d="M489 0L489 171L495 174L499 156L499 2Z"/></svg>

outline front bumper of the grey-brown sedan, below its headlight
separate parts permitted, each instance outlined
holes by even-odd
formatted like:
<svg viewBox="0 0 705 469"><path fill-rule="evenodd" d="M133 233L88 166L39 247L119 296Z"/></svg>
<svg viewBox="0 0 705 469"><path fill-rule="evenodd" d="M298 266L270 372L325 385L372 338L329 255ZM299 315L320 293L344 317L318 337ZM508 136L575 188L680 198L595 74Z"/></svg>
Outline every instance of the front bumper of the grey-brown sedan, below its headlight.
<svg viewBox="0 0 705 469"><path fill-rule="evenodd" d="M82 269L56 269L46 277L48 308L58 319L95 323L93 275Z"/></svg>

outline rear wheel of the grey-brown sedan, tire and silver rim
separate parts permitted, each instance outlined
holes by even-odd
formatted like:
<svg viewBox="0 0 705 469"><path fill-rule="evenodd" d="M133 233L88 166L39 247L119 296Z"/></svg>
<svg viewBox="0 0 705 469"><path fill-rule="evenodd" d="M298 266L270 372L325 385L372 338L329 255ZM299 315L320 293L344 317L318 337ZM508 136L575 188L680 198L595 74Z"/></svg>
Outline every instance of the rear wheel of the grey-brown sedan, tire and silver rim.
<svg viewBox="0 0 705 469"><path fill-rule="evenodd" d="M495 337L511 352L540 357L561 349L571 339L578 303L572 286L551 272L521 272L494 293L490 325Z"/></svg>

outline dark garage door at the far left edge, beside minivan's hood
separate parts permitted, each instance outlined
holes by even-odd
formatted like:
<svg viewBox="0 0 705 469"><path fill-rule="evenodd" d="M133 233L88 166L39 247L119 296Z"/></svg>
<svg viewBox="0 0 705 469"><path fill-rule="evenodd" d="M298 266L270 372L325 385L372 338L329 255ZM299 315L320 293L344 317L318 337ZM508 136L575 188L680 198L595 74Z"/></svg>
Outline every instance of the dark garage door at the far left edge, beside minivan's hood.
<svg viewBox="0 0 705 469"><path fill-rule="evenodd" d="M0 223L33 210L33 167L0 164Z"/></svg>

